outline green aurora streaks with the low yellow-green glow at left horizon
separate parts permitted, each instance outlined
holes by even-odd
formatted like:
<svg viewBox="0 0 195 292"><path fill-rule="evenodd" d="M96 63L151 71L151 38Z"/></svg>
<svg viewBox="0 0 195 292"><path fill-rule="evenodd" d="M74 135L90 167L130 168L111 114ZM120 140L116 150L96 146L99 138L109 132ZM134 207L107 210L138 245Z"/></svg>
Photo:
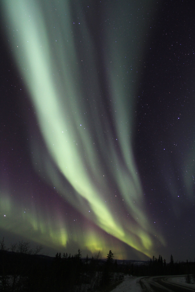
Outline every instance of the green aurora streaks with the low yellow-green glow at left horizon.
<svg viewBox="0 0 195 292"><path fill-rule="evenodd" d="M129 78L123 68L125 58L132 66L137 64L136 40L128 47L127 40L107 23L103 32L107 53L102 53L105 76L101 76L97 48L79 3L73 13L67 0L3 2L9 43L50 155L32 143L36 171L53 184L59 196L98 226L97 230L151 256L155 232L144 211L131 147L134 76L128 88L124 86ZM109 22L108 15L105 20ZM137 27L131 26L134 34ZM139 57L140 53L136 54ZM106 78L109 87L110 116L101 78ZM15 222L10 206L17 203L8 193L2 194L0 202L7 214L6 224L1 224L4 229L51 247L78 242L80 249L107 253L109 242L103 233L87 226L74 229L52 207L47 214L42 213L38 202ZM15 209L19 212L22 206Z"/></svg>

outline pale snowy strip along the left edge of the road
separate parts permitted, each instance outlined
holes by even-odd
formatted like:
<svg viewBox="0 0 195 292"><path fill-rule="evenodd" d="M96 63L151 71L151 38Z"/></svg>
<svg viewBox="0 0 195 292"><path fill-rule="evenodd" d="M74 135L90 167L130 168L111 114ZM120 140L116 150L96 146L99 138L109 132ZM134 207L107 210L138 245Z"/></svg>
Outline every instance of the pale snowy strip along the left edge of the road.
<svg viewBox="0 0 195 292"><path fill-rule="evenodd" d="M139 280L143 277L133 277L126 275L124 281L111 292L142 292Z"/></svg>

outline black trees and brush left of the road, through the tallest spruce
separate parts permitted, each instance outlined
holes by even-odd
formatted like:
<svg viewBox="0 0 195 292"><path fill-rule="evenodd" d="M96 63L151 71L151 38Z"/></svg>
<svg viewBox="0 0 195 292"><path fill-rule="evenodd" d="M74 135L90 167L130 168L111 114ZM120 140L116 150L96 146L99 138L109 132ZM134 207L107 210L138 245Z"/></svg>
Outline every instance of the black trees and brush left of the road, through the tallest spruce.
<svg viewBox="0 0 195 292"><path fill-rule="evenodd" d="M41 248L32 250L29 242L19 242L8 251L4 239L0 242L0 291L97 291L124 277L111 250L103 261L100 252L90 259L82 259L80 250L74 256L57 252L51 258L38 255Z"/></svg>

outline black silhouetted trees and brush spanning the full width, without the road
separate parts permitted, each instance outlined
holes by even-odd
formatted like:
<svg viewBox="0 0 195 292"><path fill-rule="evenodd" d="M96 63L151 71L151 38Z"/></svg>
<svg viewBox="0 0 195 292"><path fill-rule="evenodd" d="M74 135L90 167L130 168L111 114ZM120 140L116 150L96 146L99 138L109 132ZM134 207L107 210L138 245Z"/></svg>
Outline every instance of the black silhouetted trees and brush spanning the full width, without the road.
<svg viewBox="0 0 195 292"><path fill-rule="evenodd" d="M159 255L141 265L117 264L110 250L106 261L101 252L82 259L77 254L57 252L54 258L39 255L42 247L30 248L29 242L19 242L6 249L0 242L0 291L2 292L85 292L111 289L125 274L133 276L186 275L186 282L194 282L195 262L170 262Z"/></svg>

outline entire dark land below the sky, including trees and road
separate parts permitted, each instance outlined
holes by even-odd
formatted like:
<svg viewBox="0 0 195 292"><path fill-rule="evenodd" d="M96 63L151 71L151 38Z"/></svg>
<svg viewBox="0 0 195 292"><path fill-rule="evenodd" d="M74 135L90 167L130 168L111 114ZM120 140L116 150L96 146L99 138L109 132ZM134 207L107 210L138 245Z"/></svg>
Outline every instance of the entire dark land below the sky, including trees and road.
<svg viewBox="0 0 195 292"><path fill-rule="evenodd" d="M80 251L74 256L57 253L56 257L48 257L0 250L0 291L3 292L111 291L124 279L115 289L133 285L134 292L194 291L194 274L194 262L171 260L166 264L160 256L148 262L114 261L113 256L105 260L83 259Z"/></svg>

